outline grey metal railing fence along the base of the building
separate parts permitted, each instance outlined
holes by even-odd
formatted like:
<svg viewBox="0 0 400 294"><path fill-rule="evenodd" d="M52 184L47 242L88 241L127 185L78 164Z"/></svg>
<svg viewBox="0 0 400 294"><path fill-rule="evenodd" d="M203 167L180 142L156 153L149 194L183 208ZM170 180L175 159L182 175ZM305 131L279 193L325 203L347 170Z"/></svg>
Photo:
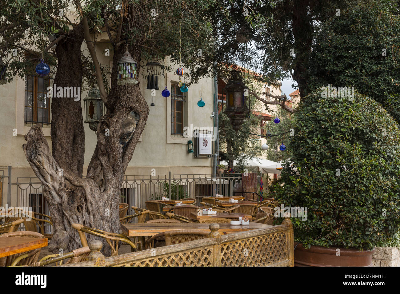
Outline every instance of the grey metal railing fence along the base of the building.
<svg viewBox="0 0 400 294"><path fill-rule="evenodd" d="M258 174L258 182L260 182ZM4 184L7 179L7 185ZM146 201L158 200L162 196L171 200L195 198L199 205L202 197L234 195L235 184L242 184L242 174L174 174L168 175L126 175L121 185L120 202L129 204L129 214L133 214L131 206L146 208ZM7 189L4 189L7 188ZM3 193L7 190L7 193ZM48 205L43 195L43 184L36 177L17 178L12 182L11 167L0 169L0 206L30 207L32 211L49 214ZM256 191L254 191L256 192Z"/></svg>

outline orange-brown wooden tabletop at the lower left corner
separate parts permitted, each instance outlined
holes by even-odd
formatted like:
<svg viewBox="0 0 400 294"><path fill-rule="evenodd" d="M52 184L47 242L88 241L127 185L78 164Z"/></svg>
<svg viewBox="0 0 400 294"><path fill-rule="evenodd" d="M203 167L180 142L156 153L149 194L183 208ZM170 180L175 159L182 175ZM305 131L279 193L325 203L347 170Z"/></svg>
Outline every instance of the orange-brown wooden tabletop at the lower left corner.
<svg viewBox="0 0 400 294"><path fill-rule="evenodd" d="M47 238L0 237L0 257L47 246Z"/></svg>

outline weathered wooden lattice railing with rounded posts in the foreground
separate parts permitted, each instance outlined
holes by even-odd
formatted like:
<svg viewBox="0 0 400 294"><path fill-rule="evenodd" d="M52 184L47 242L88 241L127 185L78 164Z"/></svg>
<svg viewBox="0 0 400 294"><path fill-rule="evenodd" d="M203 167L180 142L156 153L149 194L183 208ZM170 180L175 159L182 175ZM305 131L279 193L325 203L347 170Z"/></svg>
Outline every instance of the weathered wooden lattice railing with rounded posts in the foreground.
<svg viewBox="0 0 400 294"><path fill-rule="evenodd" d="M293 226L281 225L221 236L210 224L210 238L104 258L101 245L89 260L64 266L293 266ZM100 244L98 242L97 244Z"/></svg>

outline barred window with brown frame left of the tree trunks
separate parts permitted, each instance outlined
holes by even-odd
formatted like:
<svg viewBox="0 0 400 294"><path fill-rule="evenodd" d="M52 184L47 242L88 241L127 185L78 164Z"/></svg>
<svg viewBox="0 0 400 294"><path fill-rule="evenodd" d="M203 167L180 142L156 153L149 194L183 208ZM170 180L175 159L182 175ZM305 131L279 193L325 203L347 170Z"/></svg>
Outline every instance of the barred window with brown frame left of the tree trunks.
<svg viewBox="0 0 400 294"><path fill-rule="evenodd" d="M26 124L50 124L50 101L47 97L47 87L50 78L39 76L25 76L25 109Z"/></svg>

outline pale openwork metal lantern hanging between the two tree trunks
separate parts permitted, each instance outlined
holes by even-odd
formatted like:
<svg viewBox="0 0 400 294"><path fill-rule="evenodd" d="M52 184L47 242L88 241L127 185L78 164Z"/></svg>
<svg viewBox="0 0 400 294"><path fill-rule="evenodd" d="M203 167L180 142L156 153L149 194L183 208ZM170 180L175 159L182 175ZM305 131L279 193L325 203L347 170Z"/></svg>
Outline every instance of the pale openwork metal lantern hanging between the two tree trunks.
<svg viewBox="0 0 400 294"><path fill-rule="evenodd" d="M92 131L97 130L97 124L103 116L103 101L100 98L100 90L92 88L89 90L88 97L83 98L85 104L85 123L89 124Z"/></svg>

